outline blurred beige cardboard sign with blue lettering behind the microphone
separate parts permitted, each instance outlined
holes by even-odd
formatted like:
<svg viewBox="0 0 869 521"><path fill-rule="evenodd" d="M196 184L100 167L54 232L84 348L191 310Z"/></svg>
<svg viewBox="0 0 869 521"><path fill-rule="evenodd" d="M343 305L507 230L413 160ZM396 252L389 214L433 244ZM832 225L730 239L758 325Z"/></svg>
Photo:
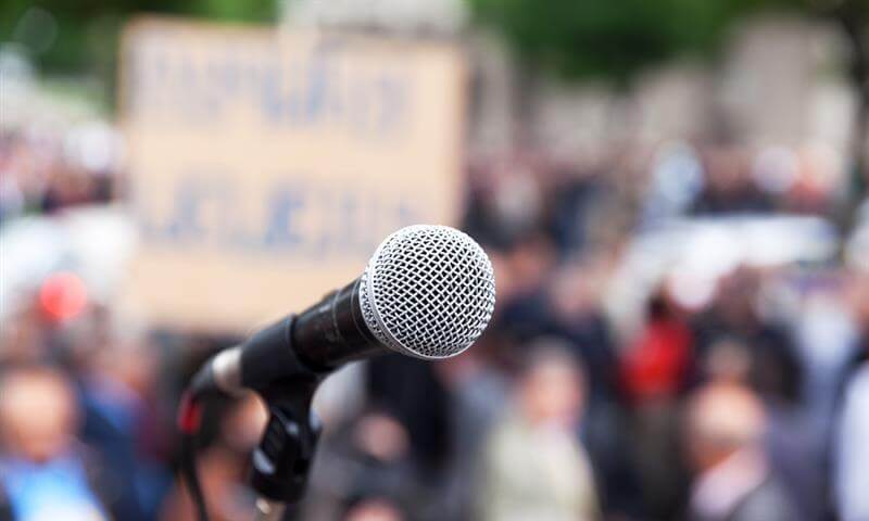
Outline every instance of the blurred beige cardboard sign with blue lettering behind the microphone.
<svg viewBox="0 0 869 521"><path fill-rule="evenodd" d="M148 20L122 60L129 293L159 323L244 330L358 275L389 232L455 223L449 46Z"/></svg>

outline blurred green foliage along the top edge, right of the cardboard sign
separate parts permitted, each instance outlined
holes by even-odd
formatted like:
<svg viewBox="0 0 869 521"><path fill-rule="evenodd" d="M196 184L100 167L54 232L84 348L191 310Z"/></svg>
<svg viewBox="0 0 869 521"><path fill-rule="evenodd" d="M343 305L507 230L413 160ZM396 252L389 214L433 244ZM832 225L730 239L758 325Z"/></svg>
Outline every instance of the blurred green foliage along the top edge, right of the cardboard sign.
<svg viewBox="0 0 869 521"><path fill-rule="evenodd" d="M468 0L476 20L506 37L527 64L567 78L625 86L646 66L709 55L728 27L764 8L803 0Z"/></svg>

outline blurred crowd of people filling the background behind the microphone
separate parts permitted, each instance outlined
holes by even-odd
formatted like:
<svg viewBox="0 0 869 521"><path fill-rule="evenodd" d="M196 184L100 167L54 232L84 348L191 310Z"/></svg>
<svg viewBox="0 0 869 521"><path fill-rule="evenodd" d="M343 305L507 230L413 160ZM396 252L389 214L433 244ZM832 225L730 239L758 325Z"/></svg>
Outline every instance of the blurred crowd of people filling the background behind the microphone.
<svg viewBox="0 0 869 521"><path fill-rule="evenodd" d="M116 196L116 173L65 151L0 137L0 220ZM463 227L494 264L492 323L445 361L333 376L287 519L869 520L869 271L833 254L685 290L673 268L643 281L634 312L613 298L640 277L633 241L672 219L837 219L841 165L729 142L578 155L469 164ZM4 313L0 519L193 520L173 415L189 374L237 339L150 331L76 300L76 283L54 277ZM253 519L266 416L252 396L205 411L214 520Z"/></svg>

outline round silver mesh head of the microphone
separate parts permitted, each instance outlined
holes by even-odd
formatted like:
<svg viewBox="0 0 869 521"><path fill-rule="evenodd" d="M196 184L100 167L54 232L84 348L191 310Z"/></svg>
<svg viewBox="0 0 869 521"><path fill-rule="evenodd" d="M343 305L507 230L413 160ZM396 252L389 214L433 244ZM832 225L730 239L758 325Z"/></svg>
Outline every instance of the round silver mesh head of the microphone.
<svg viewBox="0 0 869 521"><path fill-rule="evenodd" d="M385 345L417 358L448 358L468 348L492 318L492 263L454 228L408 226L371 256L360 304Z"/></svg>

